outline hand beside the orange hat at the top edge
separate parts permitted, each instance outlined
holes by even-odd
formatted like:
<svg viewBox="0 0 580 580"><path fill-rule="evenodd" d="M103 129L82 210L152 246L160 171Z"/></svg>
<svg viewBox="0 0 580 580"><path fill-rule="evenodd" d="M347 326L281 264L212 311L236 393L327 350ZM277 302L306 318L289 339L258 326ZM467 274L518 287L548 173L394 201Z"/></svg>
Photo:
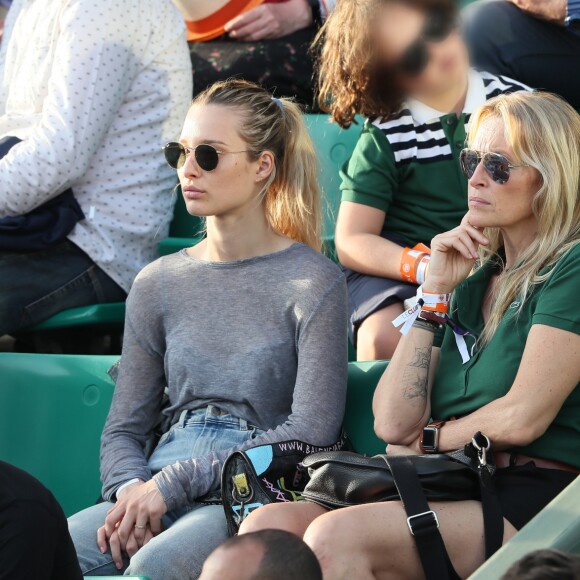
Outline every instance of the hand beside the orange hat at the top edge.
<svg viewBox="0 0 580 580"><path fill-rule="evenodd" d="M232 38L245 42L281 38L312 24L307 0L286 0L262 4L230 20L225 30Z"/></svg>

